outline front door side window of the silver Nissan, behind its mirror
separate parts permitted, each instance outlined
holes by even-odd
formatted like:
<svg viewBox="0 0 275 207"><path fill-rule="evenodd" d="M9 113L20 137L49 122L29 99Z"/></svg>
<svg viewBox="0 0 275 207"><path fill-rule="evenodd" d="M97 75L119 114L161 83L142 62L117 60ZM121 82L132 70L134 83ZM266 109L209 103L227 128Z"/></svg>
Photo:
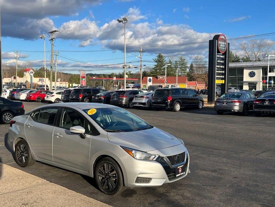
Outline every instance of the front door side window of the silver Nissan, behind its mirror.
<svg viewBox="0 0 275 207"><path fill-rule="evenodd" d="M82 118L76 111L63 109L60 126L65 129L70 129L72 126L84 127L84 118Z"/></svg>

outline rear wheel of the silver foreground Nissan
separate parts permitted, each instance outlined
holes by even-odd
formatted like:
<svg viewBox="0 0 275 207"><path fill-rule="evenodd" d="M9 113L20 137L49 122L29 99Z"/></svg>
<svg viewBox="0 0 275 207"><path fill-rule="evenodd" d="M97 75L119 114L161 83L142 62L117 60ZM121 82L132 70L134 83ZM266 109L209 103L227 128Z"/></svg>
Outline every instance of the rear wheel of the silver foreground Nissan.
<svg viewBox="0 0 275 207"><path fill-rule="evenodd" d="M15 144L15 162L20 167L32 166L35 163L35 160L32 159L32 154L26 140L19 140Z"/></svg>

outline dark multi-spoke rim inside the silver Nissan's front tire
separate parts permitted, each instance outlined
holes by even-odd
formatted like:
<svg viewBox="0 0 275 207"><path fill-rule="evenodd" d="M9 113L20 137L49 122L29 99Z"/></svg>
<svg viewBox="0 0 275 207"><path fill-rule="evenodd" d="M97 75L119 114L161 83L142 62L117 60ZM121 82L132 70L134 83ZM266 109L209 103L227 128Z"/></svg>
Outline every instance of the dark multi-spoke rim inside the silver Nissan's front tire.
<svg viewBox="0 0 275 207"><path fill-rule="evenodd" d="M104 163L98 169L98 180L104 190L114 190L117 186L117 172L112 165Z"/></svg>

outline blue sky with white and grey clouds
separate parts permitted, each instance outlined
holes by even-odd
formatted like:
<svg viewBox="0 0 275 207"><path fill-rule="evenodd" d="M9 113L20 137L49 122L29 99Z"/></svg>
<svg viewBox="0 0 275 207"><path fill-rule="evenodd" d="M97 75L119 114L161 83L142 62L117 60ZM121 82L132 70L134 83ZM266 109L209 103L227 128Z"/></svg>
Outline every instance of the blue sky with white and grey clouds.
<svg viewBox="0 0 275 207"><path fill-rule="evenodd" d="M183 55L188 61L194 55L208 55L208 44L187 46L152 47L154 44L181 44L212 39L224 33L227 38L275 32L274 1L100 1L100 0L0 0L3 61L14 65L14 50L19 50L19 63L34 68L43 66L43 40L38 36L58 29L54 50L60 50L58 69L76 72L80 66L112 65L121 72L123 50L90 51L123 48L123 25L116 19L130 18L127 27L127 65L139 63L139 45L146 45L144 60L152 60L161 52L166 56ZM274 41L274 36L267 36ZM242 40L247 41L247 40ZM232 41L231 50L240 52L238 43ZM46 39L46 50L50 41ZM131 54L131 55L128 55ZM148 56L147 56L148 55ZM65 59L68 57L82 63ZM114 59L120 58L120 59ZM46 60L49 67L50 53ZM106 60L109 59L109 60ZM113 60L111 60L113 59ZM104 61L106 60L106 61ZM87 62L87 63L83 63ZM153 63L147 63L152 66ZM63 66L63 67L61 67ZM111 67L94 72L114 72ZM121 67L121 69L119 69ZM89 72L92 72L89 68ZM133 72L135 69L131 69Z"/></svg>

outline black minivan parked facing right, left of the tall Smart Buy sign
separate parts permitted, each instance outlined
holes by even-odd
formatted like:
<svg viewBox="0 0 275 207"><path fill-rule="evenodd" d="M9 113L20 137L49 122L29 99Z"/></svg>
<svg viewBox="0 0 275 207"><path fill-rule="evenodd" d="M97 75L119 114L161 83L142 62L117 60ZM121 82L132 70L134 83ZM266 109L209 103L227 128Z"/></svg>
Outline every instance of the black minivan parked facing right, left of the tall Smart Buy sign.
<svg viewBox="0 0 275 207"><path fill-rule="evenodd" d="M182 107L197 106L202 109L203 105L203 98L186 88L156 89L152 97L152 107L155 109L173 109L178 112Z"/></svg>

